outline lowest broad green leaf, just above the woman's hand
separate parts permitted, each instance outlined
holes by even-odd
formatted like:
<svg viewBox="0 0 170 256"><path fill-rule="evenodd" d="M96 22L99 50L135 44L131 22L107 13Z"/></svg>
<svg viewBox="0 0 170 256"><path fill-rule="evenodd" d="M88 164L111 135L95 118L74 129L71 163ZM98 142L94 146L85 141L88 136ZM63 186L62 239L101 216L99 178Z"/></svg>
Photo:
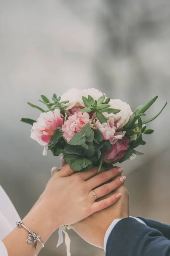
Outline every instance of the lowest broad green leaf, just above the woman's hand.
<svg viewBox="0 0 170 256"><path fill-rule="evenodd" d="M65 161L70 165L71 169L75 172L81 171L82 169L86 168L87 166L91 165L91 160L75 156L75 155L65 155Z"/></svg>

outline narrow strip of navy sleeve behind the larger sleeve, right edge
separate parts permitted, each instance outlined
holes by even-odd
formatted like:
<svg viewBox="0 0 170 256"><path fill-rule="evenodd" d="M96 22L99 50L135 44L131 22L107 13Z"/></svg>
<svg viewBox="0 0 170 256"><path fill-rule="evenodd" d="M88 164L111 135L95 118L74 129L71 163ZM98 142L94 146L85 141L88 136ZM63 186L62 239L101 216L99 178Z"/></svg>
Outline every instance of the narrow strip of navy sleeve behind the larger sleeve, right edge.
<svg viewBox="0 0 170 256"><path fill-rule="evenodd" d="M138 218L140 218L142 221L144 221L144 223L146 223L148 227L152 227L156 230L159 230L164 237L166 237L167 239L170 240L170 225L161 223L159 221L145 219L142 217L138 217Z"/></svg>

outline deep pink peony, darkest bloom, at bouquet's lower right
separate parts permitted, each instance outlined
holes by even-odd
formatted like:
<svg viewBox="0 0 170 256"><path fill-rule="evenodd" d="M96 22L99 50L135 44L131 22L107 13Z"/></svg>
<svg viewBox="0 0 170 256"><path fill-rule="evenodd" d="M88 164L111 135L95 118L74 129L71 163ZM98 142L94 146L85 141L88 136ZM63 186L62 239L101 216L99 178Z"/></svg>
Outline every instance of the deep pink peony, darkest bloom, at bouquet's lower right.
<svg viewBox="0 0 170 256"><path fill-rule="evenodd" d="M129 148L130 140L127 137L123 137L122 140L118 140L116 144L112 145L110 150L105 151L103 160L106 163L117 163L126 154Z"/></svg>

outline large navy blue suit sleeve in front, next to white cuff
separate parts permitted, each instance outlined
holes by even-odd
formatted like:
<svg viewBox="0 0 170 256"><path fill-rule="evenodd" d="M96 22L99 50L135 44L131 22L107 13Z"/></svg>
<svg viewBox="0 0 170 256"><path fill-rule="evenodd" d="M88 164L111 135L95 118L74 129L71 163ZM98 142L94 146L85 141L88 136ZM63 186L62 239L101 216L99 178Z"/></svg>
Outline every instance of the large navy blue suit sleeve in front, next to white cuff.
<svg viewBox="0 0 170 256"><path fill-rule="evenodd" d="M106 256L170 256L170 240L133 218L124 218L111 231Z"/></svg>

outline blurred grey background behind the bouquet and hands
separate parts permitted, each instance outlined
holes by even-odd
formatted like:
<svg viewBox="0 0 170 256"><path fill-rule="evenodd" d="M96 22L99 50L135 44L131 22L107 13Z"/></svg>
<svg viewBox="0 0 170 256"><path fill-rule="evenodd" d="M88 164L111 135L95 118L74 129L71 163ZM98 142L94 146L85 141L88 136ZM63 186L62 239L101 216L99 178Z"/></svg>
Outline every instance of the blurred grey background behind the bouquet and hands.
<svg viewBox="0 0 170 256"><path fill-rule="evenodd" d="M159 99L155 115L170 102L169 0L0 0L0 184L20 216L29 211L59 157L42 156L30 139L37 119L29 107L40 94L61 95L70 87L96 87L131 108ZM127 175L131 215L170 223L170 104L148 125L144 156L122 166ZM145 135L147 136L147 135ZM103 256L69 231L73 256ZM57 232L40 256L64 256Z"/></svg>

